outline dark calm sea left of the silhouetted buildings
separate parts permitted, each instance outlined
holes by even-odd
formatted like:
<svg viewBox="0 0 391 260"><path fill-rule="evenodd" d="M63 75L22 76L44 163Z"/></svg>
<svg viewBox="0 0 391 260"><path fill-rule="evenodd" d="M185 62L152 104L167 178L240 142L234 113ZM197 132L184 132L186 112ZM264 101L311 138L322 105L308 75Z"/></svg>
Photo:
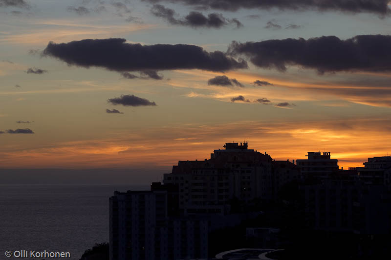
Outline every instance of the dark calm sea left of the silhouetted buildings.
<svg viewBox="0 0 391 260"><path fill-rule="evenodd" d="M109 242L113 192L142 189L149 187L0 185L0 259L6 250L46 250L78 260L95 243Z"/></svg>

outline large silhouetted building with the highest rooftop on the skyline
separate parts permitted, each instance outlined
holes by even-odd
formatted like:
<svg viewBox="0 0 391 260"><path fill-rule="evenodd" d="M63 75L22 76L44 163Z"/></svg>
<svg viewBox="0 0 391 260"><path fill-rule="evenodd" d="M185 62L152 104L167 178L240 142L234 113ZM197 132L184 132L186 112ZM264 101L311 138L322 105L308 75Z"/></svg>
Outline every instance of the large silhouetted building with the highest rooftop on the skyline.
<svg viewBox="0 0 391 260"><path fill-rule="evenodd" d="M228 201L272 200L272 159L245 143L226 143L209 160L179 161L163 182L179 185L182 214L227 214Z"/></svg>

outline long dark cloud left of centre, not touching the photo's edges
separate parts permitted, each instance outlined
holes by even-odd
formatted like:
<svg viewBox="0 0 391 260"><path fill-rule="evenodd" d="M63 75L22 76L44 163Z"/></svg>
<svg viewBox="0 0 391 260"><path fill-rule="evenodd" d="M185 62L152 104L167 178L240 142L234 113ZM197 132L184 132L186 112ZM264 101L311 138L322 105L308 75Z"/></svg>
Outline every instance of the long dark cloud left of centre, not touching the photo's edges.
<svg viewBox="0 0 391 260"><path fill-rule="evenodd" d="M112 38L49 42L43 50L43 56L63 60L68 65L86 68L96 66L119 72L173 69L227 71L247 68L244 60L235 60L220 51L207 52L196 45L141 45Z"/></svg>

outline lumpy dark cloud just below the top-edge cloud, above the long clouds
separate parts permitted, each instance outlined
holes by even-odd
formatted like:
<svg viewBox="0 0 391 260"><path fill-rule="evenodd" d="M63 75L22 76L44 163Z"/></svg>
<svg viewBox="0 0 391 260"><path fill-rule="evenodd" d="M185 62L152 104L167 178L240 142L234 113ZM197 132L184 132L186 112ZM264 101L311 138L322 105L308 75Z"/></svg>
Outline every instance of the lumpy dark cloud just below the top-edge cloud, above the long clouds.
<svg viewBox="0 0 391 260"><path fill-rule="evenodd" d="M151 13L154 16L164 18L171 24L183 25L190 27L207 27L207 28L221 28L231 22L235 23L237 28L243 26L238 19L229 20L224 18L221 14L212 13L208 17L204 16L200 12L190 12L187 16L181 19L176 19L176 15L173 9L164 7L161 4L154 4L151 8Z"/></svg>

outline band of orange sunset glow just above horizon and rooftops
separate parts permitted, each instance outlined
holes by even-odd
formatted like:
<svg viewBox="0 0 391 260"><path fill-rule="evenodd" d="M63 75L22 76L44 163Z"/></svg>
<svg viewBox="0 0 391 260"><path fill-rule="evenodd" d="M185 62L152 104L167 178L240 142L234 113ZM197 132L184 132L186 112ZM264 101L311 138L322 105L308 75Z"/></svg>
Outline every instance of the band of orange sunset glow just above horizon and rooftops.
<svg viewBox="0 0 391 260"><path fill-rule="evenodd" d="M176 125L151 128L130 140L118 137L70 141L49 148L2 152L0 167L171 168L178 160L208 159L214 149L223 149L225 142L240 142L244 137L249 140L249 149L266 151L275 160L305 159L307 152L320 150L331 152L331 157L339 160L339 166L347 169L362 166L369 157L387 154L391 146L388 124L386 120L349 120Z"/></svg>

